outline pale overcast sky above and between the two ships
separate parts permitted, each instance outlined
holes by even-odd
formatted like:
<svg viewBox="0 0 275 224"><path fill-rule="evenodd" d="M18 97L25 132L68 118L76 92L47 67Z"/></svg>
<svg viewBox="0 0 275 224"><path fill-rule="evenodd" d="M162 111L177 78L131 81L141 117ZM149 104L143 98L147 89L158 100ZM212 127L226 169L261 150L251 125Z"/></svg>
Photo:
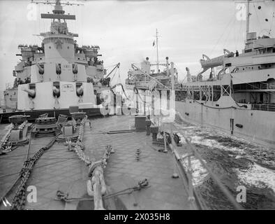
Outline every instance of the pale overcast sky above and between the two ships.
<svg viewBox="0 0 275 224"><path fill-rule="evenodd" d="M43 0L40 0L43 1ZM73 1L74 2L74 1ZM216 57L223 48L230 51L244 47L245 21L237 1L82 1L84 6L65 6L66 13L75 14L76 21L68 22L70 32L79 34L77 43L99 45L107 69L121 62L121 82L132 63L145 57L156 62L152 46L156 28L159 31L159 58L168 56L174 62L179 78L185 67L195 74L200 71L202 54ZM52 12L52 7L36 5L36 20L29 20L30 1L0 1L0 90L13 82L12 71L20 57L19 44L41 44L34 36L49 31L50 20L41 20L40 13ZM31 4L32 5L32 4ZM251 3L251 31L274 37L272 23L274 1ZM258 6L261 6L258 9ZM265 21L267 19L268 21ZM275 20L275 19L274 19ZM118 81L114 77L113 84Z"/></svg>

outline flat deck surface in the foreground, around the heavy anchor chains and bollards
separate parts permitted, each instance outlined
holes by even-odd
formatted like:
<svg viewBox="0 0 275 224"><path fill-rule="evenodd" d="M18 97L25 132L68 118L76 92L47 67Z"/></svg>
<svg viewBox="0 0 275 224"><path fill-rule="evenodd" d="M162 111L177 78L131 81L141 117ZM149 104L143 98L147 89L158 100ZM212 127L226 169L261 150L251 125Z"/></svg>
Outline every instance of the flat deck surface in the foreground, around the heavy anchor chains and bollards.
<svg viewBox="0 0 275 224"><path fill-rule="evenodd" d="M149 180L149 188L143 188L130 195L106 200L106 209L189 209L188 191L184 180L172 179L174 158L171 153L158 152L152 145L151 136L145 132L107 134L110 130L133 129L134 116L111 116L91 120L84 126L84 153L89 158L99 160L105 146L111 145L114 153L104 170L107 191L133 187L138 181ZM1 128L0 134L5 130ZM31 139L30 156L51 141L51 137ZM20 146L14 151L0 156L0 196L17 179L28 146ZM140 160L135 160L135 152L140 148ZM87 196L87 167L73 151L68 151L64 142L56 142L36 162L27 186L36 186L37 202L29 203L25 209L93 209L94 202L61 202L54 200L57 190L68 193L68 197ZM12 201L13 193L7 197ZM0 209L8 209L1 204Z"/></svg>

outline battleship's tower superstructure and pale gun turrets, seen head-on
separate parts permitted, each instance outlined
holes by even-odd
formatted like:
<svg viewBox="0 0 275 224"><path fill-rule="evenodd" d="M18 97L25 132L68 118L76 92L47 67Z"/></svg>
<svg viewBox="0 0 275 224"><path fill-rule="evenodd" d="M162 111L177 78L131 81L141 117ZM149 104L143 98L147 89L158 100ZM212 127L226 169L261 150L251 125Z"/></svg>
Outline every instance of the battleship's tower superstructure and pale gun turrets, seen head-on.
<svg viewBox="0 0 275 224"><path fill-rule="evenodd" d="M17 78L13 86L9 85L4 91L8 109L64 111L69 106L97 109L94 90L109 85L101 84L106 84L103 78L106 70L103 61L98 59L100 48L77 45L78 34L71 33L66 23L66 20L75 20L75 15L65 14L63 5L66 4L57 0L52 13L41 14L41 19L52 20L50 31L40 34L41 46L18 46L21 54L17 56L22 59L13 71Z"/></svg>

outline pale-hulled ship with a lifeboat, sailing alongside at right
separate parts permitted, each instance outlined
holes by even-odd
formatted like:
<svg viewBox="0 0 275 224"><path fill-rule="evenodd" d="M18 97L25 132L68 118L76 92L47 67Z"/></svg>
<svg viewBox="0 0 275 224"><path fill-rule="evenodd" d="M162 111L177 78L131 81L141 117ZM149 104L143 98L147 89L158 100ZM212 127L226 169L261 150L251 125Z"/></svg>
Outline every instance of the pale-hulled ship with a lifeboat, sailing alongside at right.
<svg viewBox="0 0 275 224"><path fill-rule="evenodd" d="M188 123L218 128L275 148L275 38L249 31L249 4L247 1L246 41L241 53L223 49L219 57L202 55L202 71L193 76L186 67L185 83L172 71L176 74L175 109ZM169 62L164 64L164 72L154 72L152 65L148 60L142 62L141 69L132 65L126 79L128 90L137 89L140 94L144 90L171 90Z"/></svg>

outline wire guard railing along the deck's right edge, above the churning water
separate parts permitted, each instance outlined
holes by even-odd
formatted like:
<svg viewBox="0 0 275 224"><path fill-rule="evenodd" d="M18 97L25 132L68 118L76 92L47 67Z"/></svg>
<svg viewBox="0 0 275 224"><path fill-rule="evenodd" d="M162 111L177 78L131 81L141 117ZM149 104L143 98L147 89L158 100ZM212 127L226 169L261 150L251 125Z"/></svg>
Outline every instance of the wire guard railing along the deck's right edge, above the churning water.
<svg viewBox="0 0 275 224"><path fill-rule="evenodd" d="M183 120L180 114L178 115L179 115L179 118ZM154 118L155 117L153 116L153 119ZM161 122L160 122L159 116L156 118L156 120L158 120L158 122L154 122L154 123L158 123L158 125L160 125ZM207 209L207 206L204 200L202 200L202 195L200 195L200 193L197 190L195 190L195 187L193 186L194 162L191 161L192 158L195 158L200 162L200 165L202 165L202 167L207 171L207 174L209 174L211 179L216 183L216 186L218 186L218 188L221 190L223 195L225 195L228 201L232 204L232 207L234 207L235 209L243 209L241 205L237 202L237 199L232 195L230 190L228 190L228 188L226 188L224 184L221 182L221 179L216 174L214 174L214 172L212 172L212 170L203 160L200 153L198 153L198 149L193 144L191 144L191 139L188 139L187 137L185 137L185 134L182 132L182 130L179 130L177 127L175 127L174 124L171 123L171 125L172 126L168 127L168 129L165 129L163 127L163 133L164 133L163 138L166 140L165 133L170 133L170 136L172 136L174 132L177 132L184 137L184 140L186 142L185 144L186 154L182 155L178 151L179 146L177 146L177 144L175 143L174 138L170 138L171 143L168 143L168 141L166 140L168 146L170 147L172 153L174 154L174 158L176 159L175 167L179 168L181 178L184 181L184 187L188 191L188 202L190 204L191 209ZM176 168L175 168L175 171L176 171Z"/></svg>

